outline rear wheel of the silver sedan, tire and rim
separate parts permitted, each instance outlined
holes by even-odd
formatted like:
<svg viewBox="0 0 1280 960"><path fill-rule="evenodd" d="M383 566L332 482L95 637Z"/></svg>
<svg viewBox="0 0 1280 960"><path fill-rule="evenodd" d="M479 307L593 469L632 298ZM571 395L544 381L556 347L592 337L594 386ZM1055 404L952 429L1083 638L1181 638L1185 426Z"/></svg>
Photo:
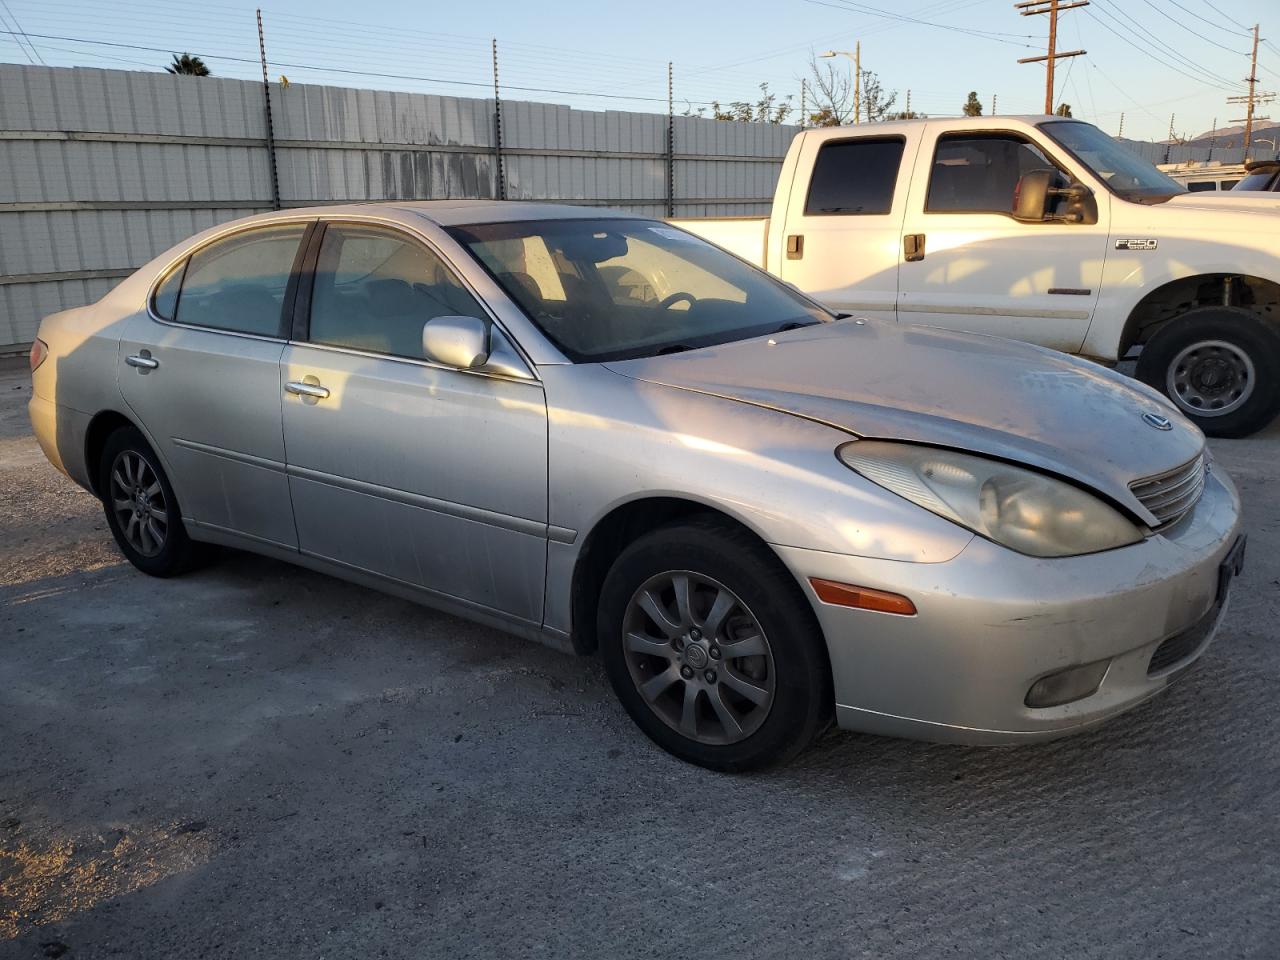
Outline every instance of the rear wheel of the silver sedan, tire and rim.
<svg viewBox="0 0 1280 960"><path fill-rule="evenodd" d="M150 576L172 577L201 559L160 458L136 428L122 426L106 438L97 477L106 525L129 563Z"/></svg>

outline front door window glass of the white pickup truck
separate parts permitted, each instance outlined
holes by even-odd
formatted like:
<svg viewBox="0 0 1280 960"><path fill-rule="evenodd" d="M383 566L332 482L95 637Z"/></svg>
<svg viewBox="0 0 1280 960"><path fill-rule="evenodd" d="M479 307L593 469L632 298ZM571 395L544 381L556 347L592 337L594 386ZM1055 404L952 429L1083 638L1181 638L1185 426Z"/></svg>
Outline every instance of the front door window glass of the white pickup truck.
<svg viewBox="0 0 1280 960"><path fill-rule="evenodd" d="M1009 214L1023 174L1046 169L1053 170L1056 164L1021 137L940 137L924 209L933 214Z"/></svg>

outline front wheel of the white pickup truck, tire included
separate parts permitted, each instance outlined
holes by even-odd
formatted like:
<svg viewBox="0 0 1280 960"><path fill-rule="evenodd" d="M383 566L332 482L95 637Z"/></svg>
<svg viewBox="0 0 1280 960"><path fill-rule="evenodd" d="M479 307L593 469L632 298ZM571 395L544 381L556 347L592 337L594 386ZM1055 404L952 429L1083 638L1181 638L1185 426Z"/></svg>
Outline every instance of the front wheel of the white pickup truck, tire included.
<svg viewBox="0 0 1280 960"><path fill-rule="evenodd" d="M1142 348L1138 379L1210 436L1248 436L1280 412L1280 334L1239 307L1192 310Z"/></svg>

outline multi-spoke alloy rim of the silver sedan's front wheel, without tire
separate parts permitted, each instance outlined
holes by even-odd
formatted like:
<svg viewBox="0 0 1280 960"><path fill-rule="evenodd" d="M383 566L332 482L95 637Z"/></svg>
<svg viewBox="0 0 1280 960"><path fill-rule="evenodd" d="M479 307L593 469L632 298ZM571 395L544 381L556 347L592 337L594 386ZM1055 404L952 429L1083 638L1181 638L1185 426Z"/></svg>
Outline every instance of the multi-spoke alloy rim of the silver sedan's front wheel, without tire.
<svg viewBox="0 0 1280 960"><path fill-rule="evenodd" d="M700 744L735 744L773 705L773 652L755 614L723 584L669 571L627 604L622 643L631 680L667 726Z"/></svg>

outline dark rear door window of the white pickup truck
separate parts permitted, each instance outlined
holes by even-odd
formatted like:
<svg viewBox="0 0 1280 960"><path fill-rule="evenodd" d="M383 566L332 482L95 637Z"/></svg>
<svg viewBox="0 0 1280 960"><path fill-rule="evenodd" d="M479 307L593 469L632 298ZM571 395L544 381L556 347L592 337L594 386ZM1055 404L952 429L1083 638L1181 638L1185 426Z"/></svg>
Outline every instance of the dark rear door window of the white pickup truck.
<svg viewBox="0 0 1280 960"><path fill-rule="evenodd" d="M813 165L805 215L867 216L890 212L905 145L901 137L824 143Z"/></svg>

